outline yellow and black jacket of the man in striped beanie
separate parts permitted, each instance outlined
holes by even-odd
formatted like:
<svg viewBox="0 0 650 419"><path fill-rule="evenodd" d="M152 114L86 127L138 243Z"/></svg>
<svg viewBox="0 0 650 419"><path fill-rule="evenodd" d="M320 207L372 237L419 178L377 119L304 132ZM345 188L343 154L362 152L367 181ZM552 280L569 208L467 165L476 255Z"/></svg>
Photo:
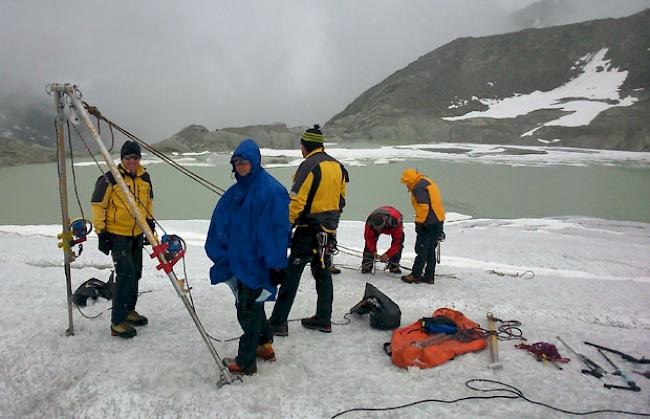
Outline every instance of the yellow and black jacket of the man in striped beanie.
<svg viewBox="0 0 650 419"><path fill-rule="evenodd" d="M319 225L325 231L334 232L345 207L347 182L345 167L323 148L309 153L293 177L289 222Z"/></svg>

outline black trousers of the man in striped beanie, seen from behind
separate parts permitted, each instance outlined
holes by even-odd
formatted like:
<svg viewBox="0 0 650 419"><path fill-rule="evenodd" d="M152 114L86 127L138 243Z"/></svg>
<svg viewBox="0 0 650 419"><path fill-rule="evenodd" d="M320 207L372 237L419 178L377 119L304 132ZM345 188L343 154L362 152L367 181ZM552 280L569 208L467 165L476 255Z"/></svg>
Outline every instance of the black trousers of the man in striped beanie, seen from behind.
<svg viewBox="0 0 650 419"><path fill-rule="evenodd" d="M278 291L278 297L273 307L270 323L278 326L287 322L291 306L296 298L300 278L307 263L311 263L311 273L316 280L316 318L330 322L332 318L332 301L334 289L332 286L332 252L331 246L336 244L333 234L327 233L327 247L323 260L320 258L316 227L297 227L291 239L291 254L284 282Z"/></svg>

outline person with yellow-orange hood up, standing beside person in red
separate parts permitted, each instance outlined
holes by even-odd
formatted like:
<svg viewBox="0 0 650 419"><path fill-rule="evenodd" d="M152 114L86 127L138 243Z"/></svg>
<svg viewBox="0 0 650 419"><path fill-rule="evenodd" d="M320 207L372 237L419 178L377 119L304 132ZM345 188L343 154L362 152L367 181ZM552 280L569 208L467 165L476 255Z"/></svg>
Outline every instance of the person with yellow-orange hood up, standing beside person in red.
<svg viewBox="0 0 650 419"><path fill-rule="evenodd" d="M402 277L402 281L409 284L433 284L436 273L435 250L444 235L445 208L442 205L440 190L434 181L415 169L404 170L400 182L405 184L411 193L417 234L413 269L410 274Z"/></svg>

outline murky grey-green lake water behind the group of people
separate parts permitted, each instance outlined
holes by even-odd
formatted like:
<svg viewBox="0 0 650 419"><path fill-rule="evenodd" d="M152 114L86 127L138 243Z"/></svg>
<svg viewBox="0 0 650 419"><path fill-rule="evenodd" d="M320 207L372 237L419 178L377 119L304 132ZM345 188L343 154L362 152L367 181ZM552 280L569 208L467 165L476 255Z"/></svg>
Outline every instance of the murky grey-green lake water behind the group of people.
<svg viewBox="0 0 650 419"><path fill-rule="evenodd" d="M412 208L402 170L417 167L442 192L447 211L477 218L539 218L590 216L621 221L650 222L650 168L625 166L511 167L507 165L413 160L386 165L349 167L348 206L343 218L363 220L380 205L393 205L412 220ZM211 182L227 188L234 181L230 167L190 167ZM208 219L218 199L214 193L171 167L148 167L159 219ZM295 167L269 170L290 187ZM90 196L100 172L96 166L76 167L77 189L86 217ZM72 218L81 215L68 166ZM56 224L61 220L56 164L0 169L0 224Z"/></svg>

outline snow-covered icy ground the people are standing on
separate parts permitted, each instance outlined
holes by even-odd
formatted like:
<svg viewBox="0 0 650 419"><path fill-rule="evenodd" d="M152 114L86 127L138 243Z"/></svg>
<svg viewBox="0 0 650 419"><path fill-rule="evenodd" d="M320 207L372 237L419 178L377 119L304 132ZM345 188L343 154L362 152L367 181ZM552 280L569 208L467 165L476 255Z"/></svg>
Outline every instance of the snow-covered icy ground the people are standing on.
<svg viewBox="0 0 650 419"><path fill-rule="evenodd" d="M198 316L217 338L236 337L240 329L232 294L209 284L210 262L202 249L207 221L163 221L189 245L187 271ZM339 241L348 249L363 246L361 222L343 222ZM358 407L390 407L421 399L452 400L493 396L465 387L467 380L503 381L528 398L571 411L615 409L650 412L650 380L632 374L647 366L612 360L637 382L641 392L608 390L623 385L617 376L596 379L556 336L606 366L582 342L592 341L637 357L650 356L650 224L587 218L522 220L452 217L446 224L442 264L435 285L407 285L384 272L362 275L359 259L340 253L344 265L334 277L333 320L357 303L366 281L397 302L402 325L436 308L460 310L486 326L486 313L522 323L530 343L557 344L571 362L558 370L538 363L500 342L502 370L488 368L489 353L466 354L439 367L419 370L394 366L382 344L390 332L369 327L368 318L352 316L329 335L291 322L290 335L276 338L275 363L242 383L216 387L219 374L190 316L166 276L145 261L138 310L150 324L132 340L110 336L103 300L87 308L95 320L74 312L76 335L67 327L62 252L57 226L0 226L0 417L182 417L322 418ZM413 225L406 226L403 264L414 256ZM93 235L94 237L94 235ZM382 239L380 247L386 247ZM90 277L106 280L109 259L91 239L73 264L73 287ZM346 267L350 267L347 269ZM181 265L177 272L182 273ZM534 278L511 276L525 271ZM505 275L499 275L505 274ZM310 316L314 282L303 275L291 319ZM272 304L267 305L270 313ZM221 356L232 356L237 342L218 343ZM485 384L484 384L485 385ZM351 412L342 417L566 417L523 400L470 400L423 403L386 412ZM606 413L597 417L621 417Z"/></svg>

